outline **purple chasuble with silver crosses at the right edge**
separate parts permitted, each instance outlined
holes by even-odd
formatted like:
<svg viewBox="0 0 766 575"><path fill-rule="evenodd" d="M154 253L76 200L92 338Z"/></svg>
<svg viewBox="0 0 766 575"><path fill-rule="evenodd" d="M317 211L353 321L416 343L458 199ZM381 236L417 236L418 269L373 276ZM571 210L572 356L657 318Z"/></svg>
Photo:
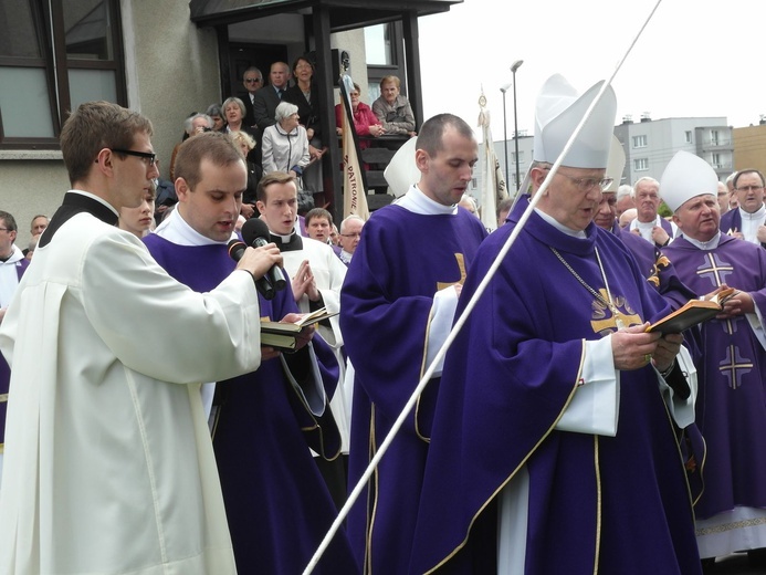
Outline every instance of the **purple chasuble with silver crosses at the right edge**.
<svg viewBox="0 0 766 575"><path fill-rule="evenodd" d="M683 280L705 294L722 283L748 292L766 315L766 251L721 234L714 250L684 238L665 248ZM709 519L735 506L766 508L766 351L744 315L702 324L696 424L707 443L705 491L694 508Z"/></svg>

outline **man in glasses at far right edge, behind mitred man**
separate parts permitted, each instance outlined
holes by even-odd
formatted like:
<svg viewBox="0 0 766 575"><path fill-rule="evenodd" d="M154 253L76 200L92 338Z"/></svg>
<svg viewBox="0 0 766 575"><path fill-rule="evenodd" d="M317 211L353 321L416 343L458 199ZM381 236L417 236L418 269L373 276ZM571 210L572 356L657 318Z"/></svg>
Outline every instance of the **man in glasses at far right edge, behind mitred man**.
<svg viewBox="0 0 766 575"><path fill-rule="evenodd" d="M721 230L766 248L764 175L757 169L743 169L736 172L732 182L739 207L721 217Z"/></svg>

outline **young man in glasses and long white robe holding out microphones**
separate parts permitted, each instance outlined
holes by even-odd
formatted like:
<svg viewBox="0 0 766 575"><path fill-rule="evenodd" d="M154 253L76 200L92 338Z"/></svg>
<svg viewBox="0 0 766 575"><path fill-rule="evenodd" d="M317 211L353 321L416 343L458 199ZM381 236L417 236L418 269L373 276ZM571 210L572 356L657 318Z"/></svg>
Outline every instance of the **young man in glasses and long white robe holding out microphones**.
<svg viewBox="0 0 766 575"><path fill-rule="evenodd" d="M200 383L259 367L253 279L282 259L248 249L199 294L119 230L158 175L151 133L107 102L62 128L72 189L0 326L0 573L235 573ZM234 157L224 179L244 189Z"/></svg>

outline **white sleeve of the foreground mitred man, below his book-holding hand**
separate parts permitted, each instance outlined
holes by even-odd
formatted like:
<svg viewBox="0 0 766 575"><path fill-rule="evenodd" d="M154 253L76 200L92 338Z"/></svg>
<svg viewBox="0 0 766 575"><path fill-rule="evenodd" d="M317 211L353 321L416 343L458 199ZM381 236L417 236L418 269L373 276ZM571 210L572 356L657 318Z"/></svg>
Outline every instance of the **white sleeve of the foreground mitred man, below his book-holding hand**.
<svg viewBox="0 0 766 575"><path fill-rule="evenodd" d="M620 372L615 369L611 335L585 342L584 385L556 424L559 431L615 437L620 407Z"/></svg>

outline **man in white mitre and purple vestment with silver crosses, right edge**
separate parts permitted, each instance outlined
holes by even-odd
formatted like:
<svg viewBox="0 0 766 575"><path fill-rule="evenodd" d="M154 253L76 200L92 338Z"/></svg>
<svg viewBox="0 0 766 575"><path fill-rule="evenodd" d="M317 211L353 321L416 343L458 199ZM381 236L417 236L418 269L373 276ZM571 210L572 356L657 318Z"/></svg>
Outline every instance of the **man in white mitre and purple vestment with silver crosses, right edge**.
<svg viewBox="0 0 766 575"><path fill-rule="evenodd" d="M766 251L721 232L717 179L680 151L662 175L681 238L665 248L681 278L709 296L737 290L702 324L696 422L707 443L705 491L695 505L702 557L749 550L766 566Z"/></svg>

